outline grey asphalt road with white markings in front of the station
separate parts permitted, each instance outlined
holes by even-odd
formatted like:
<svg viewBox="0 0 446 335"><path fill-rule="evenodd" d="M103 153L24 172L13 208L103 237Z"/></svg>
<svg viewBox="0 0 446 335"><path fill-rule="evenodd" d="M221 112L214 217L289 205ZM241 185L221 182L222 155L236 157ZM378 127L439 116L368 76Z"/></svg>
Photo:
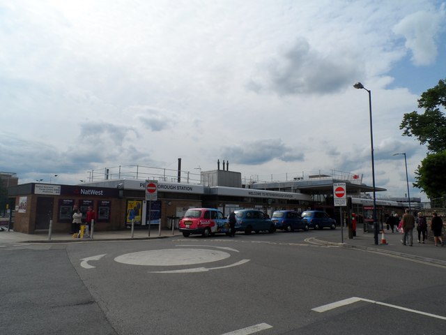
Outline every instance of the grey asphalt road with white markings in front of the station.
<svg viewBox="0 0 446 335"><path fill-rule="evenodd" d="M2 334L444 334L445 267L329 232L5 246Z"/></svg>

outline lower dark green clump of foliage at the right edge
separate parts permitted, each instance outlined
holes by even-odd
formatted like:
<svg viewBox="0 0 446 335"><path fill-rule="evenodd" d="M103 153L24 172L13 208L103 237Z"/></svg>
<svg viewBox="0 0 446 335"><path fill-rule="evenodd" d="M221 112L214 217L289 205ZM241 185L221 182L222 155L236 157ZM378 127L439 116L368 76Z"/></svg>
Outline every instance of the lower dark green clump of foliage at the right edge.
<svg viewBox="0 0 446 335"><path fill-rule="evenodd" d="M413 186L422 188L430 198L446 195L446 151L429 154L415 171L417 182Z"/></svg>

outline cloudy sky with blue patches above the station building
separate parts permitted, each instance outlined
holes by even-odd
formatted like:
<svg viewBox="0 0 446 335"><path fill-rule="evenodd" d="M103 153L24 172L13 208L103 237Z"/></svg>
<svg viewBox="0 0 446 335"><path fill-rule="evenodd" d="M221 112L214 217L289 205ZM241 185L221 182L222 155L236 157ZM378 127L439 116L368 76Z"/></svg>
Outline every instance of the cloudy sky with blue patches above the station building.
<svg viewBox="0 0 446 335"><path fill-rule="evenodd" d="M404 197L392 154L414 181L426 148L399 124L446 78L445 29L433 0L0 0L0 171L77 184L220 159L247 178L371 185L362 82L376 186Z"/></svg>

